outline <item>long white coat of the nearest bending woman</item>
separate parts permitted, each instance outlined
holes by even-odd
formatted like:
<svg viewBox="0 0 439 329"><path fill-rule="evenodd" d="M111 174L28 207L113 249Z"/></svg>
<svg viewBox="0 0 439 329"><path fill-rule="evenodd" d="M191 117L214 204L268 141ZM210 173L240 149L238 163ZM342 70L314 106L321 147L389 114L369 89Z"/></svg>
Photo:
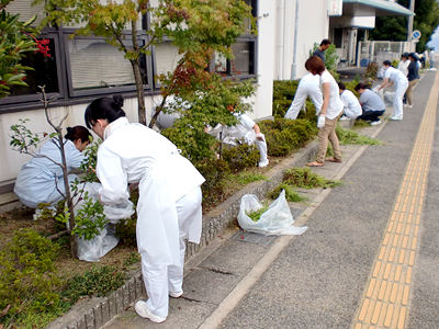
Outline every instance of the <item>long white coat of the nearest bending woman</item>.
<svg viewBox="0 0 439 329"><path fill-rule="evenodd" d="M128 183L139 182L137 247L147 262L179 264L179 227L176 202L196 189L204 178L179 155L166 137L126 117L112 122L98 150L99 190L105 204L128 198ZM189 240L198 243L201 217L189 228Z"/></svg>

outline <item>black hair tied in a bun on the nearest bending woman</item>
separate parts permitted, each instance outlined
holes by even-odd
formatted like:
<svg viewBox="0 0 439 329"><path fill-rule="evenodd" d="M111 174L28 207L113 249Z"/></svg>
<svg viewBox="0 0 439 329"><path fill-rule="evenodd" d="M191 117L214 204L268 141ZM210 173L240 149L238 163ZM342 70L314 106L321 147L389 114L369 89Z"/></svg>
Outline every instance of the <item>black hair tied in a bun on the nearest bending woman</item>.
<svg viewBox="0 0 439 329"><path fill-rule="evenodd" d="M91 129L100 118L112 123L125 116L125 112L122 110L123 103L122 95L113 95L113 99L101 98L92 101L91 104L87 106L85 113L87 127Z"/></svg>

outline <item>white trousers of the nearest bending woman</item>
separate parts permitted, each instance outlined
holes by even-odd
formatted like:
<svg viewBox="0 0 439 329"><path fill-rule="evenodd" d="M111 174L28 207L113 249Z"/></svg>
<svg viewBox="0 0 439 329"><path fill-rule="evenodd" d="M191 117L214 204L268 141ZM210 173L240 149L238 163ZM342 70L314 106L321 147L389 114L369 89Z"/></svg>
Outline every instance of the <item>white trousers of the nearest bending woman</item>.
<svg viewBox="0 0 439 329"><path fill-rule="evenodd" d="M146 306L159 317L167 317L169 311L169 292L178 293L183 283L184 239L194 218L201 215L201 188L196 188L177 201L177 214L180 235L180 264L156 265L142 258L142 274L148 295ZM142 253L140 253L142 256Z"/></svg>

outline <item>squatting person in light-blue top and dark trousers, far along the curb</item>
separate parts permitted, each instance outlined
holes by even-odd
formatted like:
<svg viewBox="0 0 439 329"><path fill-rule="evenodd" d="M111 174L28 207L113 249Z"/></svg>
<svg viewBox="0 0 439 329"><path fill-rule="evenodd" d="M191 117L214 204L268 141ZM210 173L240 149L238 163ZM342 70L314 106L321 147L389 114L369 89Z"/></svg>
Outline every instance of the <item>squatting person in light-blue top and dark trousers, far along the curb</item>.
<svg viewBox="0 0 439 329"><path fill-rule="evenodd" d="M362 114L359 118L370 121L371 126L381 125L380 116L385 112L385 104L376 92L370 90L364 83L358 83L356 91L360 94Z"/></svg>

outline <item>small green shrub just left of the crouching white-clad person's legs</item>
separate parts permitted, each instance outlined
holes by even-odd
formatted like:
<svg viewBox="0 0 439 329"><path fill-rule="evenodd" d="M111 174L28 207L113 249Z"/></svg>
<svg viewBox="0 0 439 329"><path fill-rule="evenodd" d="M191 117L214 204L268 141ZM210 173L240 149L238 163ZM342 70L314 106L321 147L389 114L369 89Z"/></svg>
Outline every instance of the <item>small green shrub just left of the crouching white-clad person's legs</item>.
<svg viewBox="0 0 439 329"><path fill-rule="evenodd" d="M241 171L245 168L256 167L259 162L259 150L256 145L241 141L238 146L223 144L223 160L227 162L232 171Z"/></svg>

